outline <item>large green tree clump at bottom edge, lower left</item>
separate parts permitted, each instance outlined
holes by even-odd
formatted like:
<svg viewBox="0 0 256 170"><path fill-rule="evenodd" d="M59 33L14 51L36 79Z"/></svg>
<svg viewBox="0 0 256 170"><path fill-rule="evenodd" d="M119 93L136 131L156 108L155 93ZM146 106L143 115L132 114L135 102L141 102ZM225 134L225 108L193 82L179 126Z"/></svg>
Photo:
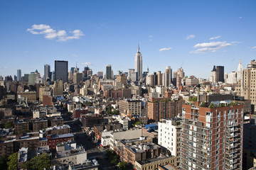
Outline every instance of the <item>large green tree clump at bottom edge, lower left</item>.
<svg viewBox="0 0 256 170"><path fill-rule="evenodd" d="M22 168L28 170L48 170L50 169L50 157L48 157L48 154L33 157L28 162L25 162L25 164L22 165Z"/></svg>

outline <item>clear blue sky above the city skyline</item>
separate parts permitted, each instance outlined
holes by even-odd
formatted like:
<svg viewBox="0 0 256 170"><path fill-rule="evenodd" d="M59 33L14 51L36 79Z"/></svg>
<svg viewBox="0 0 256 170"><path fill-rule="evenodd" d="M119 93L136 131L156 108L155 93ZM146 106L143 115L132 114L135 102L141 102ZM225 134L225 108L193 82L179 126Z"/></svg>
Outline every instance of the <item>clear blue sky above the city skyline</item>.
<svg viewBox="0 0 256 170"><path fill-rule="evenodd" d="M0 75L22 75L54 60L105 72L134 68L210 77L215 65L235 71L256 55L256 1L3 1Z"/></svg>

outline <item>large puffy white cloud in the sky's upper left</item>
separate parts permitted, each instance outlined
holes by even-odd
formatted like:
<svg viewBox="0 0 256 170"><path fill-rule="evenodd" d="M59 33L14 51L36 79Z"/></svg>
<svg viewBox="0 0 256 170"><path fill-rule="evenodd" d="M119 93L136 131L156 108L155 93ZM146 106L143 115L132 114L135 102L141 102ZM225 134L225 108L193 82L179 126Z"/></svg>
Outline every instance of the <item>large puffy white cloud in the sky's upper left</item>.
<svg viewBox="0 0 256 170"><path fill-rule="evenodd" d="M79 39L83 35L81 30L70 31L70 35L68 35L65 30L54 30L46 24L34 24L31 28L28 28L27 31L35 35L42 34L44 38L48 40L55 39L56 41Z"/></svg>

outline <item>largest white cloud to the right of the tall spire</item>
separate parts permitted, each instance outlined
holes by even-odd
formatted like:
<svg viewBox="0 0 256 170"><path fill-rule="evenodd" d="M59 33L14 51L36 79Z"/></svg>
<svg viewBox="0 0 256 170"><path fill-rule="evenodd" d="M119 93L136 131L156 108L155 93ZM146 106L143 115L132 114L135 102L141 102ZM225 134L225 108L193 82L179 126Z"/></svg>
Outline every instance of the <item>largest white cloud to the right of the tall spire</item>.
<svg viewBox="0 0 256 170"><path fill-rule="evenodd" d="M205 52L216 52L222 48L229 47L230 45L231 43L228 43L225 41L198 43L193 46L194 48L198 48L198 49L195 51L192 51L191 53L198 54L198 53L205 53Z"/></svg>

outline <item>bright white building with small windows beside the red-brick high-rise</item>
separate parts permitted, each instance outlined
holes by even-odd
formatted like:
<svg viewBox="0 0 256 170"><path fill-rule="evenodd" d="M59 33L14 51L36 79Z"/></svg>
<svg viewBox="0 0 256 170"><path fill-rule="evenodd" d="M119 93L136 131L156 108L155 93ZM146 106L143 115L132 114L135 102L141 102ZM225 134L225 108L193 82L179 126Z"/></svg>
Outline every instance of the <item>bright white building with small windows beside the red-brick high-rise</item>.
<svg viewBox="0 0 256 170"><path fill-rule="evenodd" d="M178 145L181 136L181 119L163 119L158 123L158 144L171 152L171 155L178 156Z"/></svg>

